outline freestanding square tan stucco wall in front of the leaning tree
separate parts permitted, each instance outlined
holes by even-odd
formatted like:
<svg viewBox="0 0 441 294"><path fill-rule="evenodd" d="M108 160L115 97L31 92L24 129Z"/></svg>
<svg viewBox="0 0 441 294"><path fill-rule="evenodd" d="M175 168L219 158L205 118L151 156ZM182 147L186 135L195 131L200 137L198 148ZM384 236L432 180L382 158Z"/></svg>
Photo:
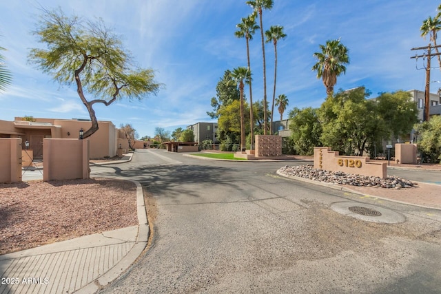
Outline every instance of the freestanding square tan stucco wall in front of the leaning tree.
<svg viewBox="0 0 441 294"><path fill-rule="evenodd" d="M43 140L43 180L73 180L89 178L88 139Z"/></svg>

